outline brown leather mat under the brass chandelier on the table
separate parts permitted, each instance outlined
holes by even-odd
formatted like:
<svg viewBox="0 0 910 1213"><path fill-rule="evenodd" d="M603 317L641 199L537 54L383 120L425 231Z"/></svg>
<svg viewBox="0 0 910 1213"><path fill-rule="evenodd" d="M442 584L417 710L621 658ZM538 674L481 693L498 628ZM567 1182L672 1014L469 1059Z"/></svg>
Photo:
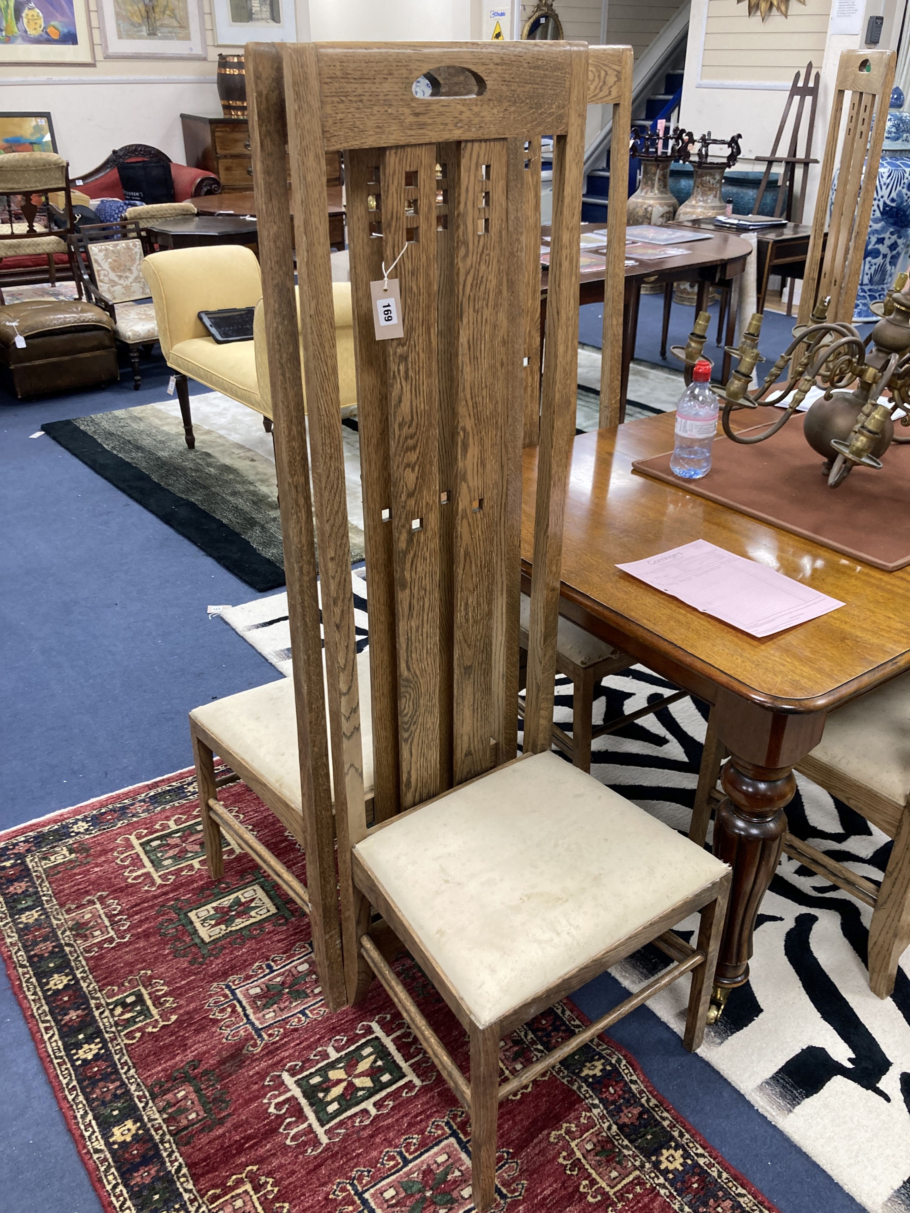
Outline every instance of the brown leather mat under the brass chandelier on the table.
<svg viewBox="0 0 910 1213"><path fill-rule="evenodd" d="M746 429L744 412L733 416L741 433L768 425ZM749 420L779 416L779 409L766 408ZM636 460L632 468L886 573L910 564L910 445L892 443L881 471L854 468L840 488L829 489L821 456L803 438L802 418L791 417L773 438L753 446L722 434L715 439L711 471L699 480L673 475L672 451ZM895 428L900 434L903 427Z"/></svg>

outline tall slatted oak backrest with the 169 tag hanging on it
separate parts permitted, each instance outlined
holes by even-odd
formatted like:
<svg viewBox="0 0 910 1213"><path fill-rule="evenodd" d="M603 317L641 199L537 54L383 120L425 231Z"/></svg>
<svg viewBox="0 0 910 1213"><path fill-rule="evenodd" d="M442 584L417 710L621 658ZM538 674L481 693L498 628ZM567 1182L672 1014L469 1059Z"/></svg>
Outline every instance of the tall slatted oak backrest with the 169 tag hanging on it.
<svg viewBox="0 0 910 1213"><path fill-rule="evenodd" d="M474 42L252 45L246 53L257 197L275 204L283 164L261 159L256 147L265 124L275 120L267 93L279 79L285 99L351 985L357 924L343 890L349 848L365 836L368 822L324 154L342 150L347 171L374 814L382 821L514 757L521 452L538 416L523 748L550 747L562 523L575 429L585 113L591 72L596 99L621 102L631 51ZM431 79L434 68L448 66L465 69L476 95L414 95L419 76ZM541 386L534 308L540 300L542 135L553 136L554 160ZM272 380L288 381L278 397L273 392L277 445L288 443L291 452L278 460L281 513L302 520L309 506L307 444L302 392L292 382L300 361L296 349L283 344L291 331L294 266L278 210L267 207L260 223L266 328ZM399 292L403 335L379 341L371 284L383 281L383 262ZM311 540L297 535L294 542L300 551ZM313 559L303 553L297 560L291 551L286 564L301 753L320 751L303 780L305 815L331 822L326 739L314 721L323 690L322 664L313 664L319 617L312 587L303 585L313 576ZM318 828L312 826L314 833Z"/></svg>

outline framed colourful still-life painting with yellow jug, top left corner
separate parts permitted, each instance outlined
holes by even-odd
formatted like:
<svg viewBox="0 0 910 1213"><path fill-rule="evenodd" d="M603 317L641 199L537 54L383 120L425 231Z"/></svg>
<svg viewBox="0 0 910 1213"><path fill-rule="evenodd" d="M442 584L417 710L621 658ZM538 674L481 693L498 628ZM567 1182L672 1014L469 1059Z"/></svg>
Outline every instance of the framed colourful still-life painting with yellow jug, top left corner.
<svg viewBox="0 0 910 1213"><path fill-rule="evenodd" d="M85 0L0 0L0 67L95 63Z"/></svg>

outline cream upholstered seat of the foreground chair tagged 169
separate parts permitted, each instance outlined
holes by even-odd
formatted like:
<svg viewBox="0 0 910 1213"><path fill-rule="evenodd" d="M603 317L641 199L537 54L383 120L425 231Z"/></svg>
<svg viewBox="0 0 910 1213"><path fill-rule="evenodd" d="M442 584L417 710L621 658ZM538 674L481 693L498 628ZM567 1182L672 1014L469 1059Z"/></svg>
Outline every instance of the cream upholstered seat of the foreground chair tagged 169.
<svg viewBox="0 0 910 1213"><path fill-rule="evenodd" d="M354 855L483 1027L728 871L552 752L393 819Z"/></svg>

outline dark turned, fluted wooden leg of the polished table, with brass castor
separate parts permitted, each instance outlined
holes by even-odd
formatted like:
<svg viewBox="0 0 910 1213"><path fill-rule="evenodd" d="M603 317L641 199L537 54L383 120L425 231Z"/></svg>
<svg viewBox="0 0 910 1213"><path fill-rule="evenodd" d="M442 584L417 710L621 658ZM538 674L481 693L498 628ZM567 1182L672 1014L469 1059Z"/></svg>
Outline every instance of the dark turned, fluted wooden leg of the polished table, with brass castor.
<svg viewBox="0 0 910 1213"><path fill-rule="evenodd" d="M755 919L784 847L784 808L796 791L792 769L821 740L825 713L785 714L721 690L713 718L730 751L713 852L733 869L733 884L709 1023L730 990L749 980Z"/></svg>

